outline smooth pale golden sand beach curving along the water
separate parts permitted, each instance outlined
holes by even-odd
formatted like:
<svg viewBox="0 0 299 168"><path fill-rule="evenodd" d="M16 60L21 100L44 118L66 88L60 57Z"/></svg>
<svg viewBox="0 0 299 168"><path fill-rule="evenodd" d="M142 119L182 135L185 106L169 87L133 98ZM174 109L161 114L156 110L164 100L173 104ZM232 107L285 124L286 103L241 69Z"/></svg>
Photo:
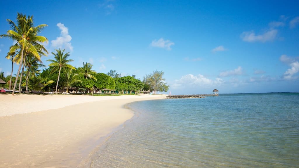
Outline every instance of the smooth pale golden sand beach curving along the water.
<svg viewBox="0 0 299 168"><path fill-rule="evenodd" d="M77 167L133 117L125 104L163 97L0 94L0 167Z"/></svg>

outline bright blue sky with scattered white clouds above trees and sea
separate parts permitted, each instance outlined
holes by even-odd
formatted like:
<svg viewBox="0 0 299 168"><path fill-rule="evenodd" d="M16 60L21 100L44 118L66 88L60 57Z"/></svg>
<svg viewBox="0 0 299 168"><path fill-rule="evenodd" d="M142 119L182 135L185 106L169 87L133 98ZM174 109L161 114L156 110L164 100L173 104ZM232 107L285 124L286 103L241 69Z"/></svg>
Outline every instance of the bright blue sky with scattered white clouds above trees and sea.
<svg viewBox="0 0 299 168"><path fill-rule="evenodd" d="M171 94L299 91L298 1L0 1L0 34L17 12L47 24L40 35L72 65L143 79L164 71ZM21 4L21 5L17 5ZM0 71L10 39L0 39ZM14 74L17 72L14 67ZM169 91L167 92L169 93Z"/></svg>

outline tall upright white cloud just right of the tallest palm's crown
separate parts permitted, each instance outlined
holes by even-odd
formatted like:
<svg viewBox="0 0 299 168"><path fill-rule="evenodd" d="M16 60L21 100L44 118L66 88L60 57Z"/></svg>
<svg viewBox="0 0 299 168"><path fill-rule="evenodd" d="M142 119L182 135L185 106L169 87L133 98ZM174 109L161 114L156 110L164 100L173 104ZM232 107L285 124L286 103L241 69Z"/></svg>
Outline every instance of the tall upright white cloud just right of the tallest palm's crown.
<svg viewBox="0 0 299 168"><path fill-rule="evenodd" d="M61 32L60 37L57 37L56 40L51 41L52 47L73 51L74 47L71 45L72 37L68 34L68 28L62 23L57 23L56 26L61 30Z"/></svg>

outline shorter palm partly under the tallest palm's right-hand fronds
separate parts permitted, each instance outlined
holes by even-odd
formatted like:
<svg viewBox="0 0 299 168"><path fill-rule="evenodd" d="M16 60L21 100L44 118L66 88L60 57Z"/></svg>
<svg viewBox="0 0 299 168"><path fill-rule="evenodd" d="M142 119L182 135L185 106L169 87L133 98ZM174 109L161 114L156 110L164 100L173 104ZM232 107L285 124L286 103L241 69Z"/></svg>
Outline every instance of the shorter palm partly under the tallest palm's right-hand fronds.
<svg viewBox="0 0 299 168"><path fill-rule="evenodd" d="M45 67L44 64L42 64L41 60L38 60L36 57L33 56L33 54L29 53L27 57L25 58L25 64L26 66L26 91L28 91L28 78L30 71L36 71L35 68ZM24 66L23 66L24 67ZM35 73L34 73L35 75Z"/></svg>

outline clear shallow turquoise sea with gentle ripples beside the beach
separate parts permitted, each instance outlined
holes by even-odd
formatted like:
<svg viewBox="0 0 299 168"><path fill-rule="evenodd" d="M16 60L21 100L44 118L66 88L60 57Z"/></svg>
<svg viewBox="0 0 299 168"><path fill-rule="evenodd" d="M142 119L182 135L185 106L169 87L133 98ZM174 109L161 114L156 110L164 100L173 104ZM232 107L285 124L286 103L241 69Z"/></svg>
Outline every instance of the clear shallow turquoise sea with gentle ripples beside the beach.
<svg viewBox="0 0 299 168"><path fill-rule="evenodd" d="M91 167L299 167L299 93L134 102Z"/></svg>

